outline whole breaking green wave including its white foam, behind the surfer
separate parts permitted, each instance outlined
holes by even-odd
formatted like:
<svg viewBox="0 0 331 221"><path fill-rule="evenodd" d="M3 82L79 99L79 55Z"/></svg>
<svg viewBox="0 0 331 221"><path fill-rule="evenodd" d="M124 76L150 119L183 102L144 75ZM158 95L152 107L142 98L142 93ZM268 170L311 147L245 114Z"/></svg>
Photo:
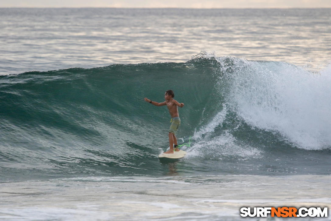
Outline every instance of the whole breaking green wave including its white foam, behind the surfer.
<svg viewBox="0 0 331 221"><path fill-rule="evenodd" d="M172 89L185 103L179 143L192 136L176 170L329 174L330 74L201 52L186 63L0 76L0 166L7 179L167 173L157 154L170 116L143 98L162 102Z"/></svg>

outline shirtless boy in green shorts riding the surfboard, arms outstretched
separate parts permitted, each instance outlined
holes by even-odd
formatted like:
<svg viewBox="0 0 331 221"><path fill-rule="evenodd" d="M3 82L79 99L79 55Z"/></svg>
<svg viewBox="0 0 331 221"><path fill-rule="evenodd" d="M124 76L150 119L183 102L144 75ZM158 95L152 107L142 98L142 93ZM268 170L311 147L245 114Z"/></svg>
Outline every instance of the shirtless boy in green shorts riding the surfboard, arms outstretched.
<svg viewBox="0 0 331 221"><path fill-rule="evenodd" d="M174 94L172 90L167 90L165 93L165 100L162 103L158 103L156 101L151 101L148 98L144 98L146 102L149 102L155 106L164 106L166 105L168 107L169 113L171 115L171 126L169 129L169 146L170 150L166 151L165 153L173 153L173 151L179 151L178 145L177 145L177 138L175 136L177 129L180 125L180 118L178 113L178 107L184 107L183 103L178 103L176 100L174 100Z"/></svg>

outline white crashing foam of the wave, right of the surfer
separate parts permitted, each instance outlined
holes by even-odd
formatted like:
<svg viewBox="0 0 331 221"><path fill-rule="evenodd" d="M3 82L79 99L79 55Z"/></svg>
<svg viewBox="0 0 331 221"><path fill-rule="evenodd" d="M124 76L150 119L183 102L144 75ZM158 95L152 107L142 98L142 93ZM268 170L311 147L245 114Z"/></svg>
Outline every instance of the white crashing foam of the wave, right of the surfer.
<svg viewBox="0 0 331 221"><path fill-rule="evenodd" d="M191 60L199 59L219 63L219 91L229 113L253 128L280 134L290 145L307 150L331 147L331 65L312 73L285 62L207 52Z"/></svg>

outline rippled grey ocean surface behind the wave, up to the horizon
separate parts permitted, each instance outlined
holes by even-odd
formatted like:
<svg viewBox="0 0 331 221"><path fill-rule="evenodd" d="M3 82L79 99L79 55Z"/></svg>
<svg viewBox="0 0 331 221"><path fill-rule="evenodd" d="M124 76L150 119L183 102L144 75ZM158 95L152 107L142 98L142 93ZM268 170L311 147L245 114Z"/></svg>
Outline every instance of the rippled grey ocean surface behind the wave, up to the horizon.
<svg viewBox="0 0 331 221"><path fill-rule="evenodd" d="M186 62L202 50L318 71L330 62L330 11L0 8L0 74Z"/></svg>

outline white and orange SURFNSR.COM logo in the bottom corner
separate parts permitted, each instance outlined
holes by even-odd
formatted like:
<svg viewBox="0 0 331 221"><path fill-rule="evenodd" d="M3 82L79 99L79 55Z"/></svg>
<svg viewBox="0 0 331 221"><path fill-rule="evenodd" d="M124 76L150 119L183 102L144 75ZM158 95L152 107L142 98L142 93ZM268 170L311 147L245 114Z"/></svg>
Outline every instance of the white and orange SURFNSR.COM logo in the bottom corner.
<svg viewBox="0 0 331 221"><path fill-rule="evenodd" d="M240 208L240 215L242 217L328 217L328 207L242 207Z"/></svg>

